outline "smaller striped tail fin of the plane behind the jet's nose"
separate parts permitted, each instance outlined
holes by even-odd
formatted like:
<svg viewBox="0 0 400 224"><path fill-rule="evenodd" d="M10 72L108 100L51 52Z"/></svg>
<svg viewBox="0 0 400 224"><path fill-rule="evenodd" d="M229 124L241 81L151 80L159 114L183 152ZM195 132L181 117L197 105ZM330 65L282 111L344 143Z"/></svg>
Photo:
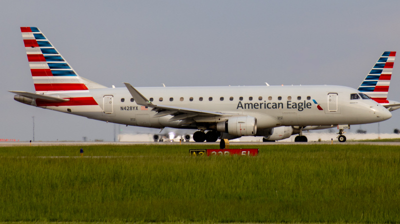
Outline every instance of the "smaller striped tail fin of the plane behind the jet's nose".
<svg viewBox="0 0 400 224"><path fill-rule="evenodd" d="M376 64L358 87L358 91L365 93L378 103L388 103L387 92L391 72L393 70L395 51L385 51Z"/></svg>

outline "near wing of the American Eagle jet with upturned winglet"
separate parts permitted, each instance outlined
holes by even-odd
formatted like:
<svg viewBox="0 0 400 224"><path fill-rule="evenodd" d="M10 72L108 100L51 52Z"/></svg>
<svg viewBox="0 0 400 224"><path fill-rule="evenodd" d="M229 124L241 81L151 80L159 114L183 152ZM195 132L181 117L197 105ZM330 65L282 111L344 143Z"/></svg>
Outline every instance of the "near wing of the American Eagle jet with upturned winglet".
<svg viewBox="0 0 400 224"><path fill-rule="evenodd" d="M166 115L173 115L171 119L168 121L177 121L177 120L186 120L196 116L202 117L214 117L214 116L223 116L228 115L221 112L214 111L206 111L206 110L198 110L192 108L184 108L184 107L174 107L174 106L165 106L165 105L156 105L147 100L139 91L137 91L133 86L129 83L124 82L126 88L128 89L130 95L132 95L133 99L136 101L136 104L140 106L146 106L153 108L153 111L157 113L153 117L163 117ZM194 122L194 121L193 121ZM191 122L191 123L193 123Z"/></svg>

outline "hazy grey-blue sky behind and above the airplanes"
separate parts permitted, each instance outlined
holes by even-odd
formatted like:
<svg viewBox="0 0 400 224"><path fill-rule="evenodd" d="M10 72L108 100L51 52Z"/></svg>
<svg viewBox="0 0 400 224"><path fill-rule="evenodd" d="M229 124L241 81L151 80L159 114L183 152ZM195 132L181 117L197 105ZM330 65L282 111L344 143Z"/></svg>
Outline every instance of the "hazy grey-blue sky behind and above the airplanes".
<svg viewBox="0 0 400 224"><path fill-rule="evenodd" d="M400 1L0 2L0 138L113 140L114 125L18 103L33 92L20 26L36 26L82 77L105 86L344 85L398 51ZM399 59L397 59L399 60ZM397 61L396 60L396 61ZM388 98L400 101L400 62ZM400 111L380 132L400 128ZM146 132L121 127L126 132ZM352 131L359 126L353 126ZM362 125L377 132L377 124ZM154 132L154 130L153 130Z"/></svg>

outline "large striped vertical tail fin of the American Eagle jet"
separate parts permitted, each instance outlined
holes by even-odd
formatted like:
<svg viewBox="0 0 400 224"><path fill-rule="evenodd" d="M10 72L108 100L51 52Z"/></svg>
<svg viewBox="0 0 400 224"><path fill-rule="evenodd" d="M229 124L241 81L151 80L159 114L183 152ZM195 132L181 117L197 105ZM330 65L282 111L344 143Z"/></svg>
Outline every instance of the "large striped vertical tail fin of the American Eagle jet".
<svg viewBox="0 0 400 224"><path fill-rule="evenodd" d="M36 92L106 88L78 76L38 28L21 32Z"/></svg>

